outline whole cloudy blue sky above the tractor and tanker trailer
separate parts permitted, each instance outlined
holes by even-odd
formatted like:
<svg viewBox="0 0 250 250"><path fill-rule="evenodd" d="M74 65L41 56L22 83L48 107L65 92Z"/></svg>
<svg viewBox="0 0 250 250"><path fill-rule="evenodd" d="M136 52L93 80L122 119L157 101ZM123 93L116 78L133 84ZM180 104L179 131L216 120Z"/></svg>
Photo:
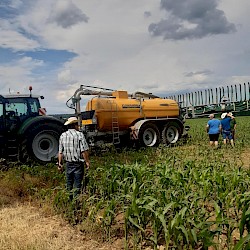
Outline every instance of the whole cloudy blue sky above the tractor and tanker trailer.
<svg viewBox="0 0 250 250"><path fill-rule="evenodd" d="M249 9L246 0L0 0L1 94L32 85L48 113L68 113L80 84L168 96L248 82Z"/></svg>

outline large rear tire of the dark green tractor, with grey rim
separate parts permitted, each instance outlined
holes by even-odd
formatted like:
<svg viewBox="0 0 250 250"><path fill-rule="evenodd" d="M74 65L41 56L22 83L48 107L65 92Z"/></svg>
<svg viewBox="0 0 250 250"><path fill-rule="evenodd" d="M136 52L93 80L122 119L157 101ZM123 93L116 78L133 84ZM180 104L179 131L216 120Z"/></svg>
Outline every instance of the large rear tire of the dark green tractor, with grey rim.
<svg viewBox="0 0 250 250"><path fill-rule="evenodd" d="M58 154L59 137L63 127L57 123L36 124L23 136L19 160L50 162Z"/></svg>

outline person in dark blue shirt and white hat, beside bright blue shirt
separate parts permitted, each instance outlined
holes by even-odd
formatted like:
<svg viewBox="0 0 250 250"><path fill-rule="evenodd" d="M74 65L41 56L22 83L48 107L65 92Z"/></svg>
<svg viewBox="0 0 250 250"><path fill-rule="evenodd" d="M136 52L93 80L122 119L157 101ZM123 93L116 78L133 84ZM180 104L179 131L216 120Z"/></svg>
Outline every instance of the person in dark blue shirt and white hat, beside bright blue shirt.
<svg viewBox="0 0 250 250"><path fill-rule="evenodd" d="M221 128L222 128L222 137L224 145L227 144L227 140L230 141L231 146L234 147L234 140L231 131L231 120L234 119L234 116L231 113L223 113L221 115Z"/></svg>

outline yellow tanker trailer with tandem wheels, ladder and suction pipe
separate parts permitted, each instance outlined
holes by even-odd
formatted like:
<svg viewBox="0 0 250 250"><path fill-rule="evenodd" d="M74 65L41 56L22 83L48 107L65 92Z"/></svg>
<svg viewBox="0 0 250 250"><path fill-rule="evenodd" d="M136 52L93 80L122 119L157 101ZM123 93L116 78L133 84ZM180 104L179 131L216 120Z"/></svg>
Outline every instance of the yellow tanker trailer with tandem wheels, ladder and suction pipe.
<svg viewBox="0 0 250 250"><path fill-rule="evenodd" d="M95 88L93 90L93 88ZM153 94L81 85L71 98L87 141L95 146L106 142L141 146L174 144L186 134L178 103ZM105 90L105 91L103 91ZM94 95L81 111L81 96Z"/></svg>

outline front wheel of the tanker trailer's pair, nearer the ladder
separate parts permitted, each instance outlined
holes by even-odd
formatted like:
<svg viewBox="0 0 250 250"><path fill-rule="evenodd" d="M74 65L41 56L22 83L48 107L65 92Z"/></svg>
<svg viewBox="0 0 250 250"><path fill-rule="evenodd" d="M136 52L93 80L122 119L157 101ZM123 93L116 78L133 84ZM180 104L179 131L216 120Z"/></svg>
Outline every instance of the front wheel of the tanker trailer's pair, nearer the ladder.
<svg viewBox="0 0 250 250"><path fill-rule="evenodd" d="M144 123L139 131L139 144L142 147L155 147L160 143L160 132L153 123Z"/></svg>

